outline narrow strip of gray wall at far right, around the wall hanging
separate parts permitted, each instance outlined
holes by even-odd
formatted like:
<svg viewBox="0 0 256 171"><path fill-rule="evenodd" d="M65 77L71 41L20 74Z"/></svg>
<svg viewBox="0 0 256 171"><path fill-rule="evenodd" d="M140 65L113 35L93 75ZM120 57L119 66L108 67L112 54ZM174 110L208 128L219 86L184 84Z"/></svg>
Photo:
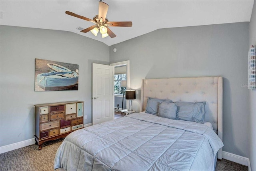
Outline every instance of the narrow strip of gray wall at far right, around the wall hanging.
<svg viewBox="0 0 256 171"><path fill-rule="evenodd" d="M256 0L252 9L252 16L250 21L250 45L256 44ZM247 48L249 49L249 48ZM249 89L250 93L250 117L249 117L249 151L250 151L250 164L252 171L256 170L256 90Z"/></svg>

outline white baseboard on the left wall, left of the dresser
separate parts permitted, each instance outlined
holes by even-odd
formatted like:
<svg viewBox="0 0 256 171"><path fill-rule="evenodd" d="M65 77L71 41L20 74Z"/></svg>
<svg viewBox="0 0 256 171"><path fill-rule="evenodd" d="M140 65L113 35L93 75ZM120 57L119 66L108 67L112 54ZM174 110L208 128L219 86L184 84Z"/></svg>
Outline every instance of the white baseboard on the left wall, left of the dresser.
<svg viewBox="0 0 256 171"><path fill-rule="evenodd" d="M18 143L4 145L4 146L0 147L0 154L8 152L8 151L15 150L15 149L19 149L19 148L22 148L22 147L26 147L26 146L32 145L34 143L36 143L36 141L35 141L34 138L32 138L32 139L28 139L28 140L25 140L25 141L20 141Z"/></svg>

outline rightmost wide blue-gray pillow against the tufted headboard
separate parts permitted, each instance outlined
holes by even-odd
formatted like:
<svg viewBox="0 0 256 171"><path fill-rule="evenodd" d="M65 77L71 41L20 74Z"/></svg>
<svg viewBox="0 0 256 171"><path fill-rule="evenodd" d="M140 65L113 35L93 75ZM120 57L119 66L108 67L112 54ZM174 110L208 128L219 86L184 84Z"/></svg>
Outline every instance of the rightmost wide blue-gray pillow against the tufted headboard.
<svg viewBox="0 0 256 171"><path fill-rule="evenodd" d="M196 103L178 101L175 103L177 104L176 119L204 123L206 101Z"/></svg>

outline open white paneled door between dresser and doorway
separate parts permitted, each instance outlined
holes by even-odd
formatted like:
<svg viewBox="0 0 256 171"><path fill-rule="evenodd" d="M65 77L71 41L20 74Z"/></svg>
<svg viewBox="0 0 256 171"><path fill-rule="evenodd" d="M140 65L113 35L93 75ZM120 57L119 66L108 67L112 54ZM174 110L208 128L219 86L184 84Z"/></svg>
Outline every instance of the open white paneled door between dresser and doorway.
<svg viewBox="0 0 256 171"><path fill-rule="evenodd" d="M114 66L92 64L92 125L114 119Z"/></svg>

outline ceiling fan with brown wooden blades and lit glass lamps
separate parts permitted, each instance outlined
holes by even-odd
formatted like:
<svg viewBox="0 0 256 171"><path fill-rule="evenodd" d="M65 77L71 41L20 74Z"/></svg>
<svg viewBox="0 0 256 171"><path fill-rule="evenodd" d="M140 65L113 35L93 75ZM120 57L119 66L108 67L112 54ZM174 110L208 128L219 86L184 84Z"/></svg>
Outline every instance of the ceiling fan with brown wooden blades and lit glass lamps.
<svg viewBox="0 0 256 171"><path fill-rule="evenodd" d="M78 14L75 14L73 12L66 11L66 14L70 16L74 16L77 18L81 18L83 20L89 21L94 23L93 26L90 26L81 32L87 33L89 31L94 34L94 36L97 36L99 30L102 34L102 38L105 38L107 36L110 36L110 38L116 37L116 35L108 28L111 27L132 27L132 22L109 22L106 18L107 12L108 12L108 4L102 2L103 0L100 0L99 2L99 14L94 16L93 20L90 18L86 18L84 16L80 16Z"/></svg>

